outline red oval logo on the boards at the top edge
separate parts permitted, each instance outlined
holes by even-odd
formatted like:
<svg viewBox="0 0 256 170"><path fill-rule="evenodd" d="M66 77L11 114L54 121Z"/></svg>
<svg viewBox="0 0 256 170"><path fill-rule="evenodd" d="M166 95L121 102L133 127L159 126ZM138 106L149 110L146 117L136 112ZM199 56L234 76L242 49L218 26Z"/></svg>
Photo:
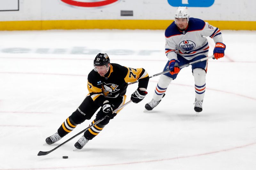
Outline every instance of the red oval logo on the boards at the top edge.
<svg viewBox="0 0 256 170"><path fill-rule="evenodd" d="M112 4L118 0L104 0L104 1L96 1L96 2L81 2L74 0L61 0L62 2L73 5L73 6L81 6L81 7L100 7L108 4Z"/></svg>

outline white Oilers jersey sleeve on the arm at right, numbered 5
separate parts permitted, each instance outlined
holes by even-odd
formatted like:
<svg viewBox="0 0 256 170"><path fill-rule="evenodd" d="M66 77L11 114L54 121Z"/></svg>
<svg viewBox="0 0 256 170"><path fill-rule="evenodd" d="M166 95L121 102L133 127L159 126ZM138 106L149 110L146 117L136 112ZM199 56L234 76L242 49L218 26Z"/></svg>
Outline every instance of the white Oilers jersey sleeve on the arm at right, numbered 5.
<svg viewBox="0 0 256 170"><path fill-rule="evenodd" d="M205 27L202 30L202 35L206 37L211 37L215 43L223 42L220 29L210 25L208 22L205 22Z"/></svg>

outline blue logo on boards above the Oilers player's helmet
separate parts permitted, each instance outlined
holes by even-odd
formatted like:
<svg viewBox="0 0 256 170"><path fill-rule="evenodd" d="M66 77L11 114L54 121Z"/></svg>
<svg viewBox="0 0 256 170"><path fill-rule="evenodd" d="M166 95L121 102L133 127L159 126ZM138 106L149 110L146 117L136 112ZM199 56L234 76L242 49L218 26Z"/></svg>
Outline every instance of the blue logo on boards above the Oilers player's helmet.
<svg viewBox="0 0 256 170"><path fill-rule="evenodd" d="M168 0L168 3L175 7L209 7L212 6L214 0Z"/></svg>

